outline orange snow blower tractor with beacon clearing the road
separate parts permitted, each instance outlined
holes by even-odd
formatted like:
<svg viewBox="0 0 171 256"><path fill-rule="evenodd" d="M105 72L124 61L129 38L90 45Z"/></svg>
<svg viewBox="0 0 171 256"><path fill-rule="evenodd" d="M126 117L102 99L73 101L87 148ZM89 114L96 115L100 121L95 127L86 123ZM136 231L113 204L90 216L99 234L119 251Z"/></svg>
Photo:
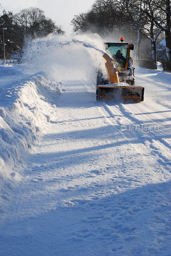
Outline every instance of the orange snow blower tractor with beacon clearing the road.
<svg viewBox="0 0 171 256"><path fill-rule="evenodd" d="M132 43L104 43L106 52L106 72L98 68L96 100L123 99L126 101L140 102L144 100L144 87L135 85L133 61L130 50L134 49Z"/></svg>

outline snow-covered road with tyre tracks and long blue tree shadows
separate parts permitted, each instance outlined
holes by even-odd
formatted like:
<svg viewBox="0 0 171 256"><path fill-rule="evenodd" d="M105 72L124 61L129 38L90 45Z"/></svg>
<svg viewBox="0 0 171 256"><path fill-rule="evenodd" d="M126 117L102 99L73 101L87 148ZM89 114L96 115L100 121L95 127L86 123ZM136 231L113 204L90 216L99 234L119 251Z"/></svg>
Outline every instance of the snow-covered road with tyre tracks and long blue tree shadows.
<svg viewBox="0 0 171 256"><path fill-rule="evenodd" d="M138 104L63 84L1 214L0 255L171 255L171 75L136 70Z"/></svg>

